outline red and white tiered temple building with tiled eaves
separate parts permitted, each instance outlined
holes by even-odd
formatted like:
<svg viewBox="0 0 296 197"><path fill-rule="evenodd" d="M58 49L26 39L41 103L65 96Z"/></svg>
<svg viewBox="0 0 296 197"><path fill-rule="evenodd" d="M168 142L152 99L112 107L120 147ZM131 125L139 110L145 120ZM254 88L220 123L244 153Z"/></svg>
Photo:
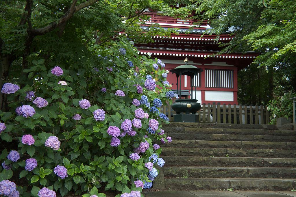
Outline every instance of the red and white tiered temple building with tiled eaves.
<svg viewBox="0 0 296 197"><path fill-rule="evenodd" d="M205 30L210 30L210 25L205 21L199 27L189 30L197 20L181 20L172 17L161 16L155 12L146 12L150 20L142 28L149 28L151 23L158 23L162 28L178 28L177 34L171 37L154 36L154 43L138 43L135 46L139 54L151 53L152 58L156 57L165 63L165 69L171 70L184 64L185 57L189 59L189 64L201 68L203 72L197 76L197 83L192 86L195 89L193 99L198 99L200 103L216 104L238 104L237 103L237 72L247 67L257 56L248 52L219 54L213 56L221 47L219 43L227 43L234 38L230 35L235 30L229 28L225 34L215 40L216 35L204 35ZM185 33L186 32L186 33ZM206 58L205 58L206 57ZM176 75L169 73L168 82L176 90ZM191 93L190 77L182 76L181 89ZM196 98L195 97L196 94ZM191 98L191 95L188 97Z"/></svg>

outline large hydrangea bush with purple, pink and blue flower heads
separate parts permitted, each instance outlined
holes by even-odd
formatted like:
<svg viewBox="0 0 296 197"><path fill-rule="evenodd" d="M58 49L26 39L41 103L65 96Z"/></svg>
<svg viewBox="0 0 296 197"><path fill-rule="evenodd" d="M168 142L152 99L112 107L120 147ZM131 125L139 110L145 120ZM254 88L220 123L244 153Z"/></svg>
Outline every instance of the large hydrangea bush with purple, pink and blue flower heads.
<svg viewBox="0 0 296 197"><path fill-rule="evenodd" d="M8 180L20 172L30 189L18 185L0 196L100 197L100 187L139 196L152 187L155 167L165 163L159 144L171 141L159 113L173 98L165 65L124 39L91 50L96 65L33 60L26 80L3 85L10 110L0 111L0 136L18 147L0 155L0 185L13 185Z"/></svg>

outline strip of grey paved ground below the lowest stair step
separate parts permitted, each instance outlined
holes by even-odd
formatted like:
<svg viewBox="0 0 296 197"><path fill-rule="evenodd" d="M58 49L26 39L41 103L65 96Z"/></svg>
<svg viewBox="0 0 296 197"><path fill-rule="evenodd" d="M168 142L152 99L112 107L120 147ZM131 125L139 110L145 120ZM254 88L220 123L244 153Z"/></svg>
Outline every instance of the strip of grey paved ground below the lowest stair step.
<svg viewBox="0 0 296 197"><path fill-rule="evenodd" d="M292 191L149 191L144 192L145 197L296 197Z"/></svg>

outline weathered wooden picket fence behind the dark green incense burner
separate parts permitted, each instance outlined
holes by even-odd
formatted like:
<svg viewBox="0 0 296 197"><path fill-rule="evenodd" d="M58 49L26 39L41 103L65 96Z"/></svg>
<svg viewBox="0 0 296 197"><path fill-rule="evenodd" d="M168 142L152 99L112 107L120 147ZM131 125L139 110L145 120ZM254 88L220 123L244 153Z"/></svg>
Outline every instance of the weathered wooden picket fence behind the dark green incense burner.
<svg viewBox="0 0 296 197"><path fill-rule="evenodd" d="M173 121L173 114L176 114L170 105L162 106L160 112L166 114L170 121ZM270 122L268 110L263 105L202 104L197 114L200 122L256 125L266 125Z"/></svg>

